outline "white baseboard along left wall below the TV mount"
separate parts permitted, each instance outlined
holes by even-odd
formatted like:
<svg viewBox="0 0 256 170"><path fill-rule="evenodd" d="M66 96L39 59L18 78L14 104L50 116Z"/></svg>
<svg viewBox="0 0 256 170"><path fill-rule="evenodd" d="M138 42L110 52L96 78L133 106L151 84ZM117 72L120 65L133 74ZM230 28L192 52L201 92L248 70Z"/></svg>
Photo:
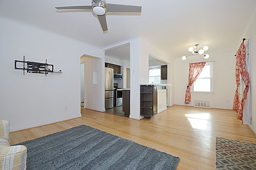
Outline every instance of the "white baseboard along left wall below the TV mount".
<svg viewBox="0 0 256 170"><path fill-rule="evenodd" d="M51 123L56 123L56 122L60 122L60 121L66 121L66 120L74 119L74 118L78 118L78 117L82 117L81 113L78 114L78 115L69 116L69 117L63 117L63 118L54 119L54 120L51 120L51 121L45 121L45 122L40 122L40 123L33 123L33 124L30 124L30 125L23 125L23 126L18 126L18 127L10 127L10 132L18 131L18 130L24 130L24 129L27 129L27 128L39 127L39 126L42 126L42 125L48 125L48 124L51 124Z"/></svg>

